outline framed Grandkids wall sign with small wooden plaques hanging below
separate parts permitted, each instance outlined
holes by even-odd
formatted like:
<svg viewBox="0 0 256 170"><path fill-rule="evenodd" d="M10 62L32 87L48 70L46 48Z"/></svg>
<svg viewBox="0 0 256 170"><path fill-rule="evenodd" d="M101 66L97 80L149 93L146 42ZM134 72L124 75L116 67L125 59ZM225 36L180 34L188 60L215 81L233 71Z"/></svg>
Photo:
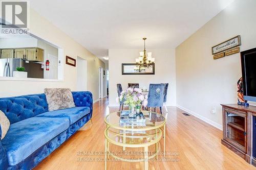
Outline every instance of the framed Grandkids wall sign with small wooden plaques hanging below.
<svg viewBox="0 0 256 170"><path fill-rule="evenodd" d="M214 55L214 59L236 54L240 52L239 45L241 45L240 35L211 47L211 54Z"/></svg>

